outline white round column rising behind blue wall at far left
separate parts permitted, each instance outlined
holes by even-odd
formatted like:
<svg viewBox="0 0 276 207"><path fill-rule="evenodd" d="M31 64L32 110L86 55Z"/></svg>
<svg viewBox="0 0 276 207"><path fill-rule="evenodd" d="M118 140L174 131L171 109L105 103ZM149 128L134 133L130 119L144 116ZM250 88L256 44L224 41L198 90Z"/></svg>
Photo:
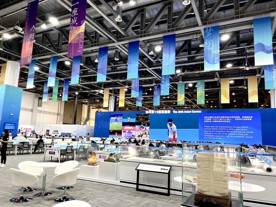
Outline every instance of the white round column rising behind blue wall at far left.
<svg viewBox="0 0 276 207"><path fill-rule="evenodd" d="M4 84L17 87L19 72L20 72L19 62L7 61Z"/></svg>

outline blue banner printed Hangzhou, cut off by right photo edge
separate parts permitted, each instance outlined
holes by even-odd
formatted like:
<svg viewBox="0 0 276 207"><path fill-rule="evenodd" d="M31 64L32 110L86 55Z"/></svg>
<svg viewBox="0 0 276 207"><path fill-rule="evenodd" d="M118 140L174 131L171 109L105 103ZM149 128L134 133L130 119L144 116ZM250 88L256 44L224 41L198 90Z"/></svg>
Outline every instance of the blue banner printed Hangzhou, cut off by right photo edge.
<svg viewBox="0 0 276 207"><path fill-rule="evenodd" d="M264 65L265 89L276 89L276 55L273 55L273 65ZM274 78L273 78L274 76Z"/></svg>

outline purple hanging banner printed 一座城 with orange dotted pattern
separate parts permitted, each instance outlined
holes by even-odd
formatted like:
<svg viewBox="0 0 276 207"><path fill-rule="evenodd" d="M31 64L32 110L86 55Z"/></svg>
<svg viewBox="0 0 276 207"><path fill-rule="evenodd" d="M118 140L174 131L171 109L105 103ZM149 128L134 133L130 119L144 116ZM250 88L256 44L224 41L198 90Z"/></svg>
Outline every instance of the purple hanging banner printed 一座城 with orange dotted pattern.
<svg viewBox="0 0 276 207"><path fill-rule="evenodd" d="M86 0L73 0L67 57L82 56Z"/></svg>

